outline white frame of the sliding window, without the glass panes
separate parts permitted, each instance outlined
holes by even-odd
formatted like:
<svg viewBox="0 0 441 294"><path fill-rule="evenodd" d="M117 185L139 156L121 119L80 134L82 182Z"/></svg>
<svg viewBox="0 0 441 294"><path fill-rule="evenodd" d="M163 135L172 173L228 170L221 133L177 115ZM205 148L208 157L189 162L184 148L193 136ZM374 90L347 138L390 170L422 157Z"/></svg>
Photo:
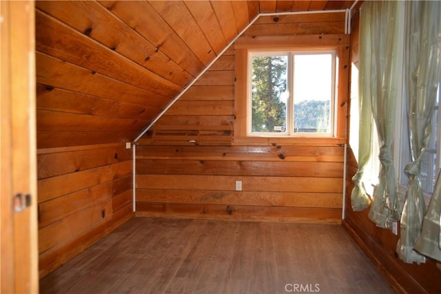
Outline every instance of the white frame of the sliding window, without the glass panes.
<svg viewBox="0 0 441 294"><path fill-rule="evenodd" d="M335 49L314 49L314 50L249 50L247 52L247 136L250 137L318 137L335 138L336 137L336 101L338 93L338 57ZM309 133L294 132L294 56L300 54L331 54L331 104L330 104L330 132L329 133ZM252 58L254 56L288 56L287 64L287 113L285 132L252 132ZM294 86L295 87L295 86Z"/></svg>

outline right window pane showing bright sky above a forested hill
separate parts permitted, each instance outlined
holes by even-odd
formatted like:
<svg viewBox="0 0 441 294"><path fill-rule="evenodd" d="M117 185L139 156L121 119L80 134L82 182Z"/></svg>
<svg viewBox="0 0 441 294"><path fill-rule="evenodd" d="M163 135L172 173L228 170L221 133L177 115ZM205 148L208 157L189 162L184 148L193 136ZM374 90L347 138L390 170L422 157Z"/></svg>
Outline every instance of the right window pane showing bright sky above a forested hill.
<svg viewBox="0 0 441 294"><path fill-rule="evenodd" d="M294 56L294 132L330 133L332 54Z"/></svg>

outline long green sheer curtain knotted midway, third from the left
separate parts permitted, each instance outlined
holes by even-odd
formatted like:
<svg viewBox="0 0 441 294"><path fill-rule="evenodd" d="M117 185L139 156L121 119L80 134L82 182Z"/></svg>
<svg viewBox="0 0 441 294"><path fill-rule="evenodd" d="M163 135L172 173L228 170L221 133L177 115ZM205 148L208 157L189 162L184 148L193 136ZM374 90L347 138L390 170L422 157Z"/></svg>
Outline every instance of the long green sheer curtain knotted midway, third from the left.
<svg viewBox="0 0 441 294"><path fill-rule="evenodd" d="M425 262L423 255L413 250L422 230L425 203L420 185L420 162L431 136L431 117L436 101L440 66L439 1L409 1L407 6L407 116L411 162L405 171L409 175L406 200L400 222L400 240L396 252L407 263Z"/></svg>

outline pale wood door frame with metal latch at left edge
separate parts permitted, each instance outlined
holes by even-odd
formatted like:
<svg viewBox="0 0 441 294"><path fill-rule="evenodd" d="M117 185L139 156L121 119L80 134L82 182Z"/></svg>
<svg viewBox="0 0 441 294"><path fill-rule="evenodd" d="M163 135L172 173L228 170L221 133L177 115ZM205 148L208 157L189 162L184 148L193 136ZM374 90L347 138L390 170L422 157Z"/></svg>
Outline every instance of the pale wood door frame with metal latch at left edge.
<svg viewBox="0 0 441 294"><path fill-rule="evenodd" d="M1 293L38 293L34 1L0 1Z"/></svg>

